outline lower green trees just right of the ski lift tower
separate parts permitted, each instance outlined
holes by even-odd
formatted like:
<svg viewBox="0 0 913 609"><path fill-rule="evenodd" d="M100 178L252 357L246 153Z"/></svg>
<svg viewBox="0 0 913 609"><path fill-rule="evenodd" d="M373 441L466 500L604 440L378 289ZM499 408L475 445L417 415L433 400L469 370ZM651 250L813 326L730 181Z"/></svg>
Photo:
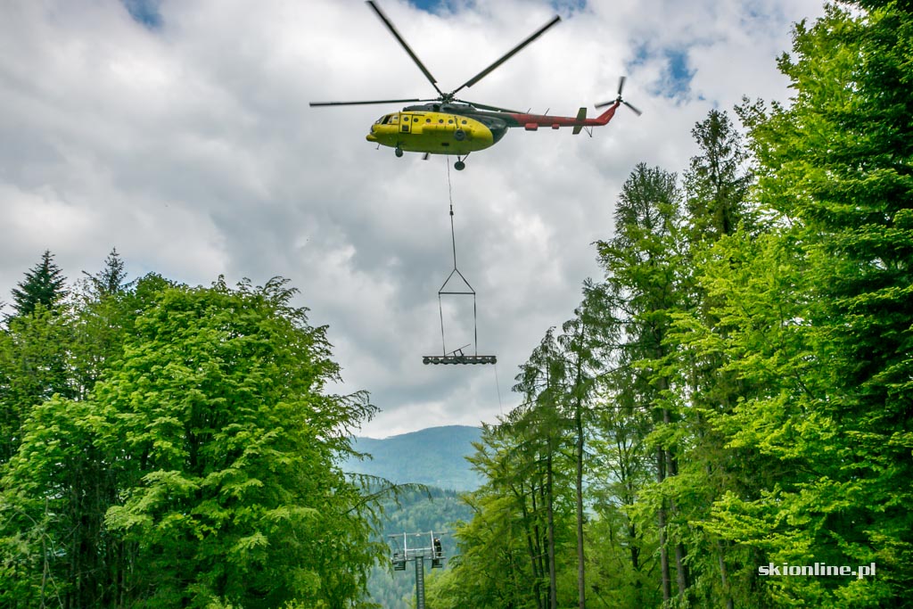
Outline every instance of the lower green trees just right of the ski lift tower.
<svg viewBox="0 0 913 609"><path fill-rule="evenodd" d="M429 606L547 607L552 556L560 561L554 568L556 583L566 582L556 596L571 597L573 579L559 574L573 572L575 565L565 552L550 551L550 545L573 547L572 487L565 476L555 479L550 490L547 455L540 439L515 425L483 427L470 461L488 482L464 498L473 517L457 527L459 555L450 569L428 583Z"/></svg>

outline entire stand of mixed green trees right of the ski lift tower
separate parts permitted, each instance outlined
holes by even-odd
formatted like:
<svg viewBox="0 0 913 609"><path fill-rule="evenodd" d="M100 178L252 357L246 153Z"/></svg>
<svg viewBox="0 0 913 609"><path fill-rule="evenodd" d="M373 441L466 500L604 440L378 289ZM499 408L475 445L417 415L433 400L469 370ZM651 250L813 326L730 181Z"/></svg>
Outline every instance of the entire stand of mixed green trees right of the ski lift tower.
<svg viewBox="0 0 913 609"><path fill-rule="evenodd" d="M631 173L431 606L911 606L913 14L860 4Z"/></svg>

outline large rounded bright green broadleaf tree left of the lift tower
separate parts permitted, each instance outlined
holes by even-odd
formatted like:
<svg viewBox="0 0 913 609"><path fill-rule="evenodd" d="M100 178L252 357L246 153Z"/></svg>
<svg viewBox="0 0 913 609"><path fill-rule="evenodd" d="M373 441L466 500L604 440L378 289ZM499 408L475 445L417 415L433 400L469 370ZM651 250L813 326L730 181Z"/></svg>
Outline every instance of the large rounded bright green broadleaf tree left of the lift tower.
<svg viewBox="0 0 913 609"><path fill-rule="evenodd" d="M340 568L371 553L334 461L341 431L371 410L361 395L320 393L337 368L290 295L281 281L166 289L96 391L113 411L110 447L140 457L124 464L131 492L106 520L148 554L156 606L213 594L245 607L329 602L364 582L363 566Z"/></svg>

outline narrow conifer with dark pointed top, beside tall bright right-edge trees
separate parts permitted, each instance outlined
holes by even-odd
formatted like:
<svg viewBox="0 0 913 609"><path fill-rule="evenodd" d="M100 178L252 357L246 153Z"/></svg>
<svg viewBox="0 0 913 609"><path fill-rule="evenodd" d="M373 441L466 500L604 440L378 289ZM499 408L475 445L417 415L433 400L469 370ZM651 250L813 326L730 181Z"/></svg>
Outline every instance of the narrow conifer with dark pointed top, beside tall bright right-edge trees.
<svg viewBox="0 0 913 609"><path fill-rule="evenodd" d="M729 437L715 427L719 417L731 414L745 393L745 382L735 371L723 370L726 359L720 352L695 348L700 341L706 346L709 337L725 338L727 333L712 312L719 297L711 298L701 285L701 265L707 258L720 256L719 247L714 247L720 240L737 231L755 235L758 223L748 201L753 180L747 169L748 152L726 112L710 110L691 134L699 152L685 173L687 264L680 270L678 287L687 306L672 315L674 322L666 336L672 348L666 365L677 376L678 399L688 404L685 426L690 440L688 454L682 459L684 477L677 485L678 506L687 520L702 521L708 518L713 500L727 490L740 491L746 477L739 470L747 456L733 458L727 447ZM736 264L736 258L729 257L728 264ZM691 571L704 602L731 608L734 600L729 595L727 555L732 552L728 545L699 530L692 530L690 537L698 556L691 562Z"/></svg>

